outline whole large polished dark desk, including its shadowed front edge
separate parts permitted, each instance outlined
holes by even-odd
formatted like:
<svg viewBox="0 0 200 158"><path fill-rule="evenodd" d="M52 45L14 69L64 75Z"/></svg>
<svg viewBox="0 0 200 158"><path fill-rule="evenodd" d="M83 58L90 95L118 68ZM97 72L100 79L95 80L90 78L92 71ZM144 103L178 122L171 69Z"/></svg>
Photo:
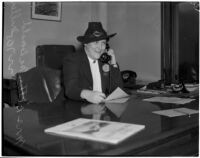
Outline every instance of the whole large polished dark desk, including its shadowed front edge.
<svg viewBox="0 0 200 158"><path fill-rule="evenodd" d="M198 114L168 118L152 111L171 107L198 109L198 98L185 105L166 105L142 101L134 94L121 117L107 110L111 120L145 125L145 130L118 145L53 136L44 129L76 118L83 102L67 100L63 105L29 104L3 109L3 155L198 155Z"/></svg>

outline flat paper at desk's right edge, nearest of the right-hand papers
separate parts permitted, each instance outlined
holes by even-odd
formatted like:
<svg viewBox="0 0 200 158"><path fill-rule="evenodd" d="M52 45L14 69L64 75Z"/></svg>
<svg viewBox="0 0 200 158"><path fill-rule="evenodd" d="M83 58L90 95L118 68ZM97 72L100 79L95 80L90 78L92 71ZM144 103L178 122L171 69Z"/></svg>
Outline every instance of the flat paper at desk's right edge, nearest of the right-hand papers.
<svg viewBox="0 0 200 158"><path fill-rule="evenodd" d="M183 116L183 115L190 116L191 114L199 113L199 111L188 109L188 108L175 108L175 109L168 109L168 110L153 111L152 113L167 116L167 117L176 117L176 116Z"/></svg>

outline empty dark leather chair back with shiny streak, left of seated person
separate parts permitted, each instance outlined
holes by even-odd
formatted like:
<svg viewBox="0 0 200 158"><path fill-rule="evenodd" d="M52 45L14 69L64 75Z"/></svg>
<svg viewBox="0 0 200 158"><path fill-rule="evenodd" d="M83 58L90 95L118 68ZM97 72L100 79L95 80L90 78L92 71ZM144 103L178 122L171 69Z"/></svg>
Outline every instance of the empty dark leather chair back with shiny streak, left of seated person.
<svg viewBox="0 0 200 158"><path fill-rule="evenodd" d="M34 67L16 74L19 102L51 103L61 92L60 70Z"/></svg>

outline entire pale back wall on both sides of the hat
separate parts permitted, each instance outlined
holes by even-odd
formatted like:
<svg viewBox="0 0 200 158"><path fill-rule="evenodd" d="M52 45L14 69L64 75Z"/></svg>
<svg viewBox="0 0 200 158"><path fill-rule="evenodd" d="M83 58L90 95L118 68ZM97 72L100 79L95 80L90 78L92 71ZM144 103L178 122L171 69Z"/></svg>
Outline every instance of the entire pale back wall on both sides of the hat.
<svg viewBox="0 0 200 158"><path fill-rule="evenodd" d="M62 21L31 19L31 3L5 3L3 76L35 66L40 44L74 44L88 21L102 21L122 70L135 70L138 79L160 79L160 3L62 3Z"/></svg>

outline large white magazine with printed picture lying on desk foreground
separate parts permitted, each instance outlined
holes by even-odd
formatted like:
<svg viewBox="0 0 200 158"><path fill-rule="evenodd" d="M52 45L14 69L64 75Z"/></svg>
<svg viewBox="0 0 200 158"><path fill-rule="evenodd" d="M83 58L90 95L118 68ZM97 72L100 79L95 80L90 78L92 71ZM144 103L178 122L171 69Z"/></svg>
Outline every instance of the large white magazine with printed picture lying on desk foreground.
<svg viewBox="0 0 200 158"><path fill-rule="evenodd" d="M46 133L118 144L145 128L144 125L79 118L45 129Z"/></svg>

